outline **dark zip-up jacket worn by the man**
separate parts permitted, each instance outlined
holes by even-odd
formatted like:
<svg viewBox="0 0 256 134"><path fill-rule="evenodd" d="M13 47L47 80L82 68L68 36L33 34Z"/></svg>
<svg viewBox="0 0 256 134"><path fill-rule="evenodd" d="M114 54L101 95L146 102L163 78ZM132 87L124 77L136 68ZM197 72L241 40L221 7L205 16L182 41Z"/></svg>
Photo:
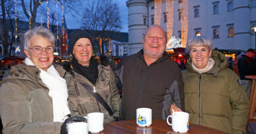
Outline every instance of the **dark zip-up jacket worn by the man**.
<svg viewBox="0 0 256 134"><path fill-rule="evenodd" d="M152 118L166 120L171 104L184 110L184 92L181 71L165 52L149 66L143 50L123 59L114 72L123 85L121 120L134 120L136 109L152 109Z"/></svg>

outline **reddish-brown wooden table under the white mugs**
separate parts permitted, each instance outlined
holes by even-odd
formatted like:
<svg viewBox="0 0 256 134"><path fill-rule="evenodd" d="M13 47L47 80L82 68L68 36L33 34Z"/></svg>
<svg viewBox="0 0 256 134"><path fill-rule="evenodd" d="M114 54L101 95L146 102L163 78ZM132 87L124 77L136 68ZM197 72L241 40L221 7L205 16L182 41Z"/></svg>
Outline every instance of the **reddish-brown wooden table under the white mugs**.
<svg viewBox="0 0 256 134"><path fill-rule="evenodd" d="M112 122L110 124L104 125L104 130L100 133L104 134L131 134L131 133L139 133L139 134L171 134L177 133L171 129L171 126L168 126L166 120L152 120L152 125L150 127L139 127L136 124L135 120L125 120L119 122ZM198 126L195 124L189 124L189 130L187 133L224 133L223 131L219 131L217 129L213 129L210 127ZM178 133L177 133L178 134Z"/></svg>

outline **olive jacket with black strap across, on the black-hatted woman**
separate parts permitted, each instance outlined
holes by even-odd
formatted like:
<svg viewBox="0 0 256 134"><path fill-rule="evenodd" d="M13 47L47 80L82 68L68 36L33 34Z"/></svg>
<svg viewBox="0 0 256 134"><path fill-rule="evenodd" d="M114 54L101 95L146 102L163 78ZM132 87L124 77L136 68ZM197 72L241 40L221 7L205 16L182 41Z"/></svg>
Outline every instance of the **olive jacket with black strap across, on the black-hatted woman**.
<svg viewBox="0 0 256 134"><path fill-rule="evenodd" d="M70 75L74 76L74 78L70 78L74 83L74 87L68 88L71 116L87 116L90 112L102 112L104 114L104 123L114 122L115 118L119 118L121 99L110 65L98 65L98 78L95 85L84 76L75 73L71 67L71 63L62 63L62 66ZM108 103L114 115L110 116L108 111L80 83L87 84L91 87L95 86L96 92Z"/></svg>

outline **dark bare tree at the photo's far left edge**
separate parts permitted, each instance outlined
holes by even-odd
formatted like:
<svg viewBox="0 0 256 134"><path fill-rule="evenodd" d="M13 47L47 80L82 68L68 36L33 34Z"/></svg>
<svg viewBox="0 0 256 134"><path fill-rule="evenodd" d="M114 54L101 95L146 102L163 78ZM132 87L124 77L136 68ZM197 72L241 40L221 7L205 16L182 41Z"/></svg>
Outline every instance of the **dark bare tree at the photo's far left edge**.
<svg viewBox="0 0 256 134"><path fill-rule="evenodd" d="M14 14L14 1L1 0L0 36L3 42L4 58L11 56L12 42L14 40ZM10 50L8 51L9 46Z"/></svg>

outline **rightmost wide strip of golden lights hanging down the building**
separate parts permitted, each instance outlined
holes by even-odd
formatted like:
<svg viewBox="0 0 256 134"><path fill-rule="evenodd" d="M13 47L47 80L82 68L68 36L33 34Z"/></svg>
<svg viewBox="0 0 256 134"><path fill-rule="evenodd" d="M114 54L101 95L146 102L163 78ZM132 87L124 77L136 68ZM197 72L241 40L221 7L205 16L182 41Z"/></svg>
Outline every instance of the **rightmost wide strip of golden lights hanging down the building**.
<svg viewBox="0 0 256 134"><path fill-rule="evenodd" d="M188 38L188 0L183 0L179 6L181 12L181 46L185 48Z"/></svg>

